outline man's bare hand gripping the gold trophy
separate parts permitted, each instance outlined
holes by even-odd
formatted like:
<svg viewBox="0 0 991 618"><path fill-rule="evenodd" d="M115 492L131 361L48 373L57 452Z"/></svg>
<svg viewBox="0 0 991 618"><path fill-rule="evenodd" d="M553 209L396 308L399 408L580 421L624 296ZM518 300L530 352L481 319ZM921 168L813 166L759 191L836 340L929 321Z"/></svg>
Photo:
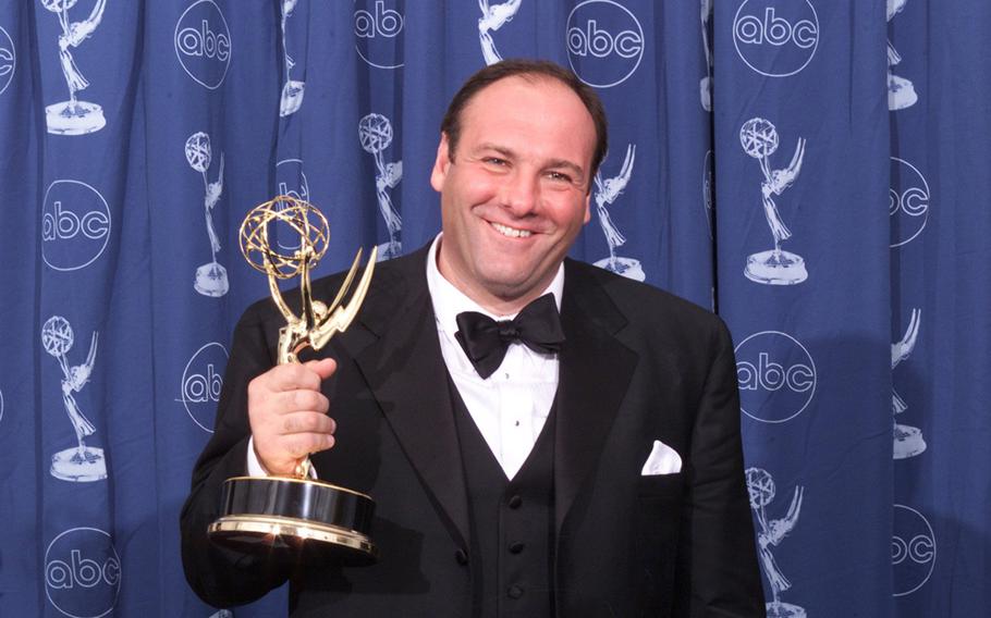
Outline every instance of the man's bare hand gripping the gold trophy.
<svg viewBox="0 0 991 618"><path fill-rule="evenodd" d="M255 455L270 474L292 474L304 457L333 446L337 423L320 384L337 368L329 358L279 364L248 384Z"/></svg>

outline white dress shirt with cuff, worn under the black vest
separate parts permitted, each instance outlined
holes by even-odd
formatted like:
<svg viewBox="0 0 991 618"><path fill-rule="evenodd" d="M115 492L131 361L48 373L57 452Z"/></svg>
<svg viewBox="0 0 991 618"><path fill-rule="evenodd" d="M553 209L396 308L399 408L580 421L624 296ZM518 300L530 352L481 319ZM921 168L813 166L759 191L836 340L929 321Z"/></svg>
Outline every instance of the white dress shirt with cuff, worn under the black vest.
<svg viewBox="0 0 991 618"><path fill-rule="evenodd" d="M445 280L437 268L437 249L442 239L443 234L438 234L430 245L426 263L427 287L433 302L440 350L468 413L506 478L512 480L534 449L554 403L560 364L558 355L537 353L516 342L510 345L499 369L482 380L454 337L457 314L478 311L495 320L512 320L516 313L495 316L486 311ZM562 264L543 292L554 295L559 311L563 291ZM248 474L264 477L265 468L255 455L254 440L248 442L247 455Z"/></svg>

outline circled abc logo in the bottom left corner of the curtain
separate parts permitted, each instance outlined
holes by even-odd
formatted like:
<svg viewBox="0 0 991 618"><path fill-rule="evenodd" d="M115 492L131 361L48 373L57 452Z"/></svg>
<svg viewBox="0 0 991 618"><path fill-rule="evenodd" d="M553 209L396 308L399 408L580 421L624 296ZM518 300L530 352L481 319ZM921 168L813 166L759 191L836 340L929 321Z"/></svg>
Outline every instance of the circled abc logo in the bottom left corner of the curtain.
<svg viewBox="0 0 991 618"><path fill-rule="evenodd" d="M73 528L48 544L45 593L65 616L107 616L113 611L120 590L121 558L102 530Z"/></svg>

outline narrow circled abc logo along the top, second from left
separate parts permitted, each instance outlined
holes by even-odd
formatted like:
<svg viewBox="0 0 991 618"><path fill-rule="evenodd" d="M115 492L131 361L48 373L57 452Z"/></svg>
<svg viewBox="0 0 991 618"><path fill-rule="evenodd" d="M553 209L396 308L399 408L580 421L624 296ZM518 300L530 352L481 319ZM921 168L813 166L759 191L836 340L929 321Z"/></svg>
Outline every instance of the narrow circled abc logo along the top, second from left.
<svg viewBox="0 0 991 618"><path fill-rule="evenodd" d="M231 32L213 0L199 0L175 24L175 55L197 84L216 89L231 65Z"/></svg>

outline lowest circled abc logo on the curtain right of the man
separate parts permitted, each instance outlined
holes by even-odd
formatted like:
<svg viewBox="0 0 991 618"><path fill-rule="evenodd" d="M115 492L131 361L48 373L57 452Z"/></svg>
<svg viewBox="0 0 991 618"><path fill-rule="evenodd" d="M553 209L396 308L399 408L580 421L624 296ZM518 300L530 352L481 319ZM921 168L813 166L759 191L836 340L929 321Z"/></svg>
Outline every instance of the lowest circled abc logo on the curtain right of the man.
<svg viewBox="0 0 991 618"><path fill-rule="evenodd" d="M894 595L904 596L922 588L935 566L935 535L929 521L914 508L894 505L891 564Z"/></svg>

